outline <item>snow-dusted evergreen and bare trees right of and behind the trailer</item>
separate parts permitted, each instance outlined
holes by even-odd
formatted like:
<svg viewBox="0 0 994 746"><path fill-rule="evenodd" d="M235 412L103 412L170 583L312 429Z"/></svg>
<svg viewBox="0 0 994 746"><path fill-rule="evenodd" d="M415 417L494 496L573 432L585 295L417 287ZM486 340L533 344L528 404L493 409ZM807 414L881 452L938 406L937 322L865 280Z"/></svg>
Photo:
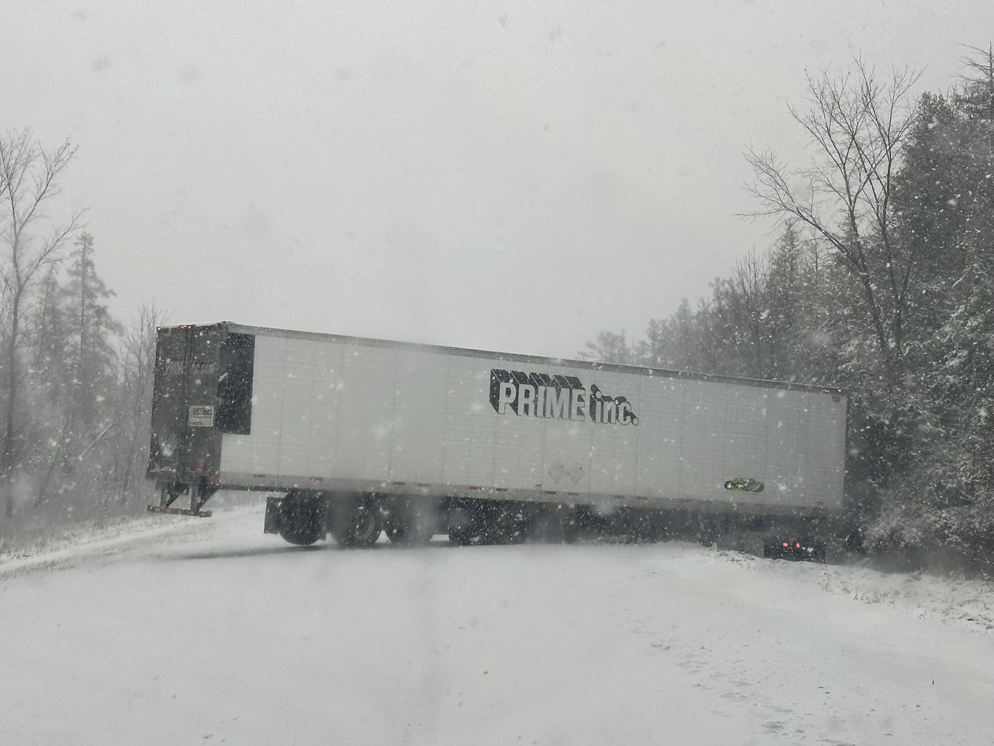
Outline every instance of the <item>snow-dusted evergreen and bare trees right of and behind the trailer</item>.
<svg viewBox="0 0 994 746"><path fill-rule="evenodd" d="M946 93L862 60L808 77L810 163L745 157L778 239L580 356L839 385L854 394L850 516L870 551L994 558L994 52Z"/></svg>

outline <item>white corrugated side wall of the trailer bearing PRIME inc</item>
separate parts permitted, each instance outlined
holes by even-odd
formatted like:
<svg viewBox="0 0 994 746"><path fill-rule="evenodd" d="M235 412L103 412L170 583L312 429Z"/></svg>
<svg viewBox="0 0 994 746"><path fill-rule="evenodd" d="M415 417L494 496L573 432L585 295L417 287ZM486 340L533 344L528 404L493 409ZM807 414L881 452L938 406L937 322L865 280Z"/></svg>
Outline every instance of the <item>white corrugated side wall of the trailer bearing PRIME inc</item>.
<svg viewBox="0 0 994 746"><path fill-rule="evenodd" d="M250 434L223 436L226 484L842 508L847 402L828 390L232 328L254 331L255 359ZM521 393L543 382L541 401ZM609 398L604 422L591 398Z"/></svg>

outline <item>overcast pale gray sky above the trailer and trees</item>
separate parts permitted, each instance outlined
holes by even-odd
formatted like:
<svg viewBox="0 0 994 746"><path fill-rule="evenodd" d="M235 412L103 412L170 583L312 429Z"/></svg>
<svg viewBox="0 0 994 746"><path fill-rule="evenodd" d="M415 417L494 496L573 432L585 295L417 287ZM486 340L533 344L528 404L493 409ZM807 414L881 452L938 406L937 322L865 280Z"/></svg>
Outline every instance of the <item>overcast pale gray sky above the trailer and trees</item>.
<svg viewBox="0 0 994 746"><path fill-rule="evenodd" d="M769 224L804 68L945 90L982 2L0 0L0 126L70 135L64 204L128 316L575 355Z"/></svg>

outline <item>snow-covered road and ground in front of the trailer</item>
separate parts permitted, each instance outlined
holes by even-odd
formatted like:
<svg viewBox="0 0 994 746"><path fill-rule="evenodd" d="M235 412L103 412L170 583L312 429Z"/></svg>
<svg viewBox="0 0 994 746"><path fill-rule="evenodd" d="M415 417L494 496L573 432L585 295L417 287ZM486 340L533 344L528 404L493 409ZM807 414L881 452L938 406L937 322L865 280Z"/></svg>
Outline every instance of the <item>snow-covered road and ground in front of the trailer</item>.
<svg viewBox="0 0 994 746"><path fill-rule="evenodd" d="M691 544L0 559L0 744L994 743L994 592Z"/></svg>

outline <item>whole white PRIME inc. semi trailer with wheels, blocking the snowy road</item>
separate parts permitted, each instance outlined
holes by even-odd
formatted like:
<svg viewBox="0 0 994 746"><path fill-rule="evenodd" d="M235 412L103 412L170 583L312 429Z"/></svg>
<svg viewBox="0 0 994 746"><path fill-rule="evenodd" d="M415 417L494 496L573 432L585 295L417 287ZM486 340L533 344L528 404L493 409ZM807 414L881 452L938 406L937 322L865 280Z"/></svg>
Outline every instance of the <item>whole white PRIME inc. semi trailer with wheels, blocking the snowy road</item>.
<svg viewBox="0 0 994 746"><path fill-rule="evenodd" d="M156 512L274 493L263 529L367 547L766 534L824 559L842 389L243 326L157 332ZM177 500L189 497L189 507Z"/></svg>

